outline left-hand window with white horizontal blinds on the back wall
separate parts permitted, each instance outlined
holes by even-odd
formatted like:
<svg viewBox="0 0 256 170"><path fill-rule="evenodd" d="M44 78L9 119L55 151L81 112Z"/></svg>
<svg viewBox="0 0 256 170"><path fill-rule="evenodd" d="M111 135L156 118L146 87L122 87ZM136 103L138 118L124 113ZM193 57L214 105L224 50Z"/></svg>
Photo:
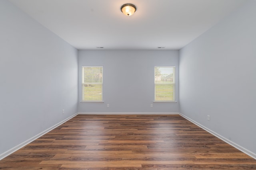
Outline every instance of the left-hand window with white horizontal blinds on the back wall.
<svg viewBox="0 0 256 170"><path fill-rule="evenodd" d="M82 66L82 102L103 102L103 66Z"/></svg>

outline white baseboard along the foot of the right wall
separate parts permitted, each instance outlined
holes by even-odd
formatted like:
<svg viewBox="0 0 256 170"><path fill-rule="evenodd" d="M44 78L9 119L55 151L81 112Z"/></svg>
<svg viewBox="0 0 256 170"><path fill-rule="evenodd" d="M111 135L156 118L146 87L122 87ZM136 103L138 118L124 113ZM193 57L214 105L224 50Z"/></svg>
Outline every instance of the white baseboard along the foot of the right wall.
<svg viewBox="0 0 256 170"><path fill-rule="evenodd" d="M212 135L218 137L219 139L221 139L222 141L228 143L229 145L235 147L236 149L240 150L241 152L244 152L245 154L247 154L248 156L251 156L252 158L256 159L256 153L251 152L248 149L245 149L244 147L241 147L240 145L226 139L225 137L223 137L222 135L219 135L218 133L208 129L207 127L201 125L200 123L190 119L189 117L183 115L182 113L179 113L182 117L184 117L185 119L187 119L188 121L194 123L195 125L198 125L199 127L201 127L202 129L206 130L207 132L211 133Z"/></svg>

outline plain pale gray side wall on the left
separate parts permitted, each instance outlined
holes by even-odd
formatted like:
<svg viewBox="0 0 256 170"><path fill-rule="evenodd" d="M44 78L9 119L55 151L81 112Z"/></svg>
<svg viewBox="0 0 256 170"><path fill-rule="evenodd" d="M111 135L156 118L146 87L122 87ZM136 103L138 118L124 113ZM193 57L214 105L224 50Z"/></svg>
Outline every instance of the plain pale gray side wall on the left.
<svg viewBox="0 0 256 170"><path fill-rule="evenodd" d="M0 155L77 113L77 50L0 0ZM62 115L64 109L64 115Z"/></svg>

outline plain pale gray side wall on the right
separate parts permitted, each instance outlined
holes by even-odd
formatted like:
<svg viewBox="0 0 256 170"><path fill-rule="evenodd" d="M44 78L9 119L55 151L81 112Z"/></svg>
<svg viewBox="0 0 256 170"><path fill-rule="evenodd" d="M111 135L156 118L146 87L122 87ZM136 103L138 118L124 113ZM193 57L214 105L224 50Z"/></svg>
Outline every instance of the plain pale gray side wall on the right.
<svg viewBox="0 0 256 170"><path fill-rule="evenodd" d="M256 1L249 1L180 50L180 112L256 156L255 110Z"/></svg>

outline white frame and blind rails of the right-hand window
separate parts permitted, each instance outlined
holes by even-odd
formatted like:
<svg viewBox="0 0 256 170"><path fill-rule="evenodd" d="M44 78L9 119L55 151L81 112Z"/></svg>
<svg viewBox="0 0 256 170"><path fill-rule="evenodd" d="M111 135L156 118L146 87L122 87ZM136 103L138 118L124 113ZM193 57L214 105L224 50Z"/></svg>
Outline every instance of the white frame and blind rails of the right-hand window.
<svg viewBox="0 0 256 170"><path fill-rule="evenodd" d="M158 83L158 80L157 80L157 76L156 76L156 68L172 68L173 69L173 74L174 76L172 77L172 81L170 82L160 82ZM176 103L176 66L154 66L154 103ZM156 94L156 85L158 84L162 84L162 85L172 85L172 87L170 87L170 89L172 89L172 98L173 100L159 100L157 99L157 94ZM169 89L169 90L170 90ZM168 90L168 89L167 89Z"/></svg>

